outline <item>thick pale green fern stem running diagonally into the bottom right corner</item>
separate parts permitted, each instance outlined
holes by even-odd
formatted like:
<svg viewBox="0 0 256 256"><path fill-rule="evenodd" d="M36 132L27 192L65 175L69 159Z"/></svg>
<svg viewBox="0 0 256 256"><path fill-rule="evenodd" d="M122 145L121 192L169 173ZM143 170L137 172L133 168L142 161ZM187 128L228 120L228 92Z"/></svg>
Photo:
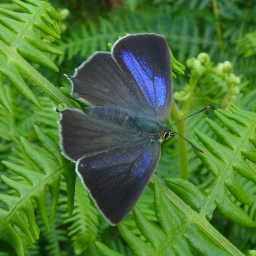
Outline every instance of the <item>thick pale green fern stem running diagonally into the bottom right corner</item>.
<svg viewBox="0 0 256 256"><path fill-rule="evenodd" d="M189 207L185 202L183 202L172 190L170 190L163 182L154 175L150 187L154 188L154 183L157 186L160 186L162 193L168 198L168 200L180 210L180 213L184 216L189 216L186 219L185 223L181 224L184 226L184 233L190 225L196 225L205 236L214 242L219 247L225 249L230 255L244 255L238 248L231 244L222 234L215 229L205 218L205 215L202 215L202 212L196 212L191 207ZM182 236L182 234L180 234Z"/></svg>

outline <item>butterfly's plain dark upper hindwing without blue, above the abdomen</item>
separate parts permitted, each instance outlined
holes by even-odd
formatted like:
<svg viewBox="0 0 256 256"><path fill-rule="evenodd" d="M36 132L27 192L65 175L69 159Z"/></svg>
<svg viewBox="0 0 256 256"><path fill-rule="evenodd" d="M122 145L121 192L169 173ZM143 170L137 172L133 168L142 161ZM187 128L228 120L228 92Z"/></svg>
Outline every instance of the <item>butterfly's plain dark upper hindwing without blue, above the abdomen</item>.
<svg viewBox="0 0 256 256"><path fill-rule="evenodd" d="M94 106L119 106L134 113L152 115L150 105L137 84L118 67L109 52L96 52L76 69L72 95Z"/></svg>

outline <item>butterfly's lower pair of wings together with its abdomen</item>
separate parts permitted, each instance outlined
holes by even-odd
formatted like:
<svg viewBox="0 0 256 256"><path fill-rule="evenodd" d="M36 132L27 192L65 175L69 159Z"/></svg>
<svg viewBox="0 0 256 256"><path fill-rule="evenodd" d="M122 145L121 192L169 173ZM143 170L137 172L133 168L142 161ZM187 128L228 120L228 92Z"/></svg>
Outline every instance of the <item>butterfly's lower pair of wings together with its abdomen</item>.
<svg viewBox="0 0 256 256"><path fill-rule="evenodd" d="M76 162L76 172L99 210L117 224L129 214L154 173L160 142L138 134L126 111L112 106L87 111L60 112L61 147Z"/></svg>

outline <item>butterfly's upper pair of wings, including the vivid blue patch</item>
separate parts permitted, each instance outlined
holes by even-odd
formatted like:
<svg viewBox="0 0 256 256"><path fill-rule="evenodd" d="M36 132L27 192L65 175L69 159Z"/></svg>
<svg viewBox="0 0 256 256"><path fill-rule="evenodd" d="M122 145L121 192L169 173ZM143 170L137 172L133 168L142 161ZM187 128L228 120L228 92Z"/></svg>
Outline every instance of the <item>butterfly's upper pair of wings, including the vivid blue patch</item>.
<svg viewBox="0 0 256 256"><path fill-rule="evenodd" d="M161 35L124 36L111 53L93 54L70 80L73 96L92 105L118 106L164 121L172 104L170 55Z"/></svg>

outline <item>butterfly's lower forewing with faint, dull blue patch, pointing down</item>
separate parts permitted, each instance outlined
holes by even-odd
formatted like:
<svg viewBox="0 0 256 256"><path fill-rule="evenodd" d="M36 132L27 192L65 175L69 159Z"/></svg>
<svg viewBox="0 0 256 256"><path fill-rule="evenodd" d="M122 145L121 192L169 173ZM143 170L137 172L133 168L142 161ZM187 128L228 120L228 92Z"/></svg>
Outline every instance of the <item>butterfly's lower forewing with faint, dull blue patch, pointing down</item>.
<svg viewBox="0 0 256 256"><path fill-rule="evenodd" d="M160 151L160 142L154 140L77 162L77 174L98 209L113 225L121 222L138 201L156 169Z"/></svg>

